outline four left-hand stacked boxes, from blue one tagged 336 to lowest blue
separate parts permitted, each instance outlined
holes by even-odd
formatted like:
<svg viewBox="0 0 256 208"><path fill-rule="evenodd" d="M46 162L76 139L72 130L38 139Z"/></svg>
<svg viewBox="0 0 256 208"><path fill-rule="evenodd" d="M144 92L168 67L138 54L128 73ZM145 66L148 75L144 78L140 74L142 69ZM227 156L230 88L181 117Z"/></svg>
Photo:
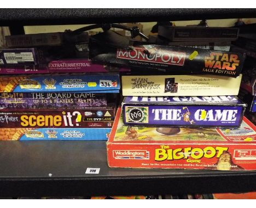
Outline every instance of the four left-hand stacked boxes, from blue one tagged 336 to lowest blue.
<svg viewBox="0 0 256 208"><path fill-rule="evenodd" d="M106 140L119 89L119 75L1 76L1 139Z"/></svg>

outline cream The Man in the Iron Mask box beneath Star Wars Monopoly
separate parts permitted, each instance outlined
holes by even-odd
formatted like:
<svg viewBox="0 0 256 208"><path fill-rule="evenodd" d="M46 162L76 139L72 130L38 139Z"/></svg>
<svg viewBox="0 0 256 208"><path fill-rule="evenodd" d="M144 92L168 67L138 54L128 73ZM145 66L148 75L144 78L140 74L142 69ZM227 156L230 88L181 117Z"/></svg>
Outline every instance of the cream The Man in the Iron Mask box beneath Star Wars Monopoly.
<svg viewBox="0 0 256 208"><path fill-rule="evenodd" d="M122 76L124 96L237 95L242 75L137 75Z"/></svg>

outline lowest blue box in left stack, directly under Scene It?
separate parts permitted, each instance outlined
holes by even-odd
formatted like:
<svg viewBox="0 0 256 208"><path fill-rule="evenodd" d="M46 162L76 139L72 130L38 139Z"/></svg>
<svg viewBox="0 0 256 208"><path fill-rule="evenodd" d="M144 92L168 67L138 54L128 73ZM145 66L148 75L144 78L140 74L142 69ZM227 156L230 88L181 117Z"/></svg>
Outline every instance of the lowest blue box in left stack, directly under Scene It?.
<svg viewBox="0 0 256 208"><path fill-rule="evenodd" d="M0 140L107 140L111 128L0 128Z"/></svg>

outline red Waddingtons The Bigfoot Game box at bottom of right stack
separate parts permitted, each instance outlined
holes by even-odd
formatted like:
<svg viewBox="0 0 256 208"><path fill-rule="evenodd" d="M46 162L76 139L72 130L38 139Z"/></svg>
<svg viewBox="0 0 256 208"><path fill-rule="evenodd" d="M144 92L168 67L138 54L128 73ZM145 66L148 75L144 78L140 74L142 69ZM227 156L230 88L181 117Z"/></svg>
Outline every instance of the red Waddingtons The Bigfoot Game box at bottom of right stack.
<svg viewBox="0 0 256 208"><path fill-rule="evenodd" d="M124 126L121 108L107 142L109 167L256 170L256 127L238 129Z"/></svg>

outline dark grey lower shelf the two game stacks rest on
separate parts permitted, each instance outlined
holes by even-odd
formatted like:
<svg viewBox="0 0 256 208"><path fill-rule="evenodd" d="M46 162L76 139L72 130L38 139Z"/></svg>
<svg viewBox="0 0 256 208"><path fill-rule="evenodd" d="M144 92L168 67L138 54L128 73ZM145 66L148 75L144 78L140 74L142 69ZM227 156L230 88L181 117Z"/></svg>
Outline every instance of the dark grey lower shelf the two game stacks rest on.
<svg viewBox="0 0 256 208"><path fill-rule="evenodd" d="M88 167L100 173L85 174ZM255 171L108 168L106 141L0 143L1 197L247 192L255 178Z"/></svg>

